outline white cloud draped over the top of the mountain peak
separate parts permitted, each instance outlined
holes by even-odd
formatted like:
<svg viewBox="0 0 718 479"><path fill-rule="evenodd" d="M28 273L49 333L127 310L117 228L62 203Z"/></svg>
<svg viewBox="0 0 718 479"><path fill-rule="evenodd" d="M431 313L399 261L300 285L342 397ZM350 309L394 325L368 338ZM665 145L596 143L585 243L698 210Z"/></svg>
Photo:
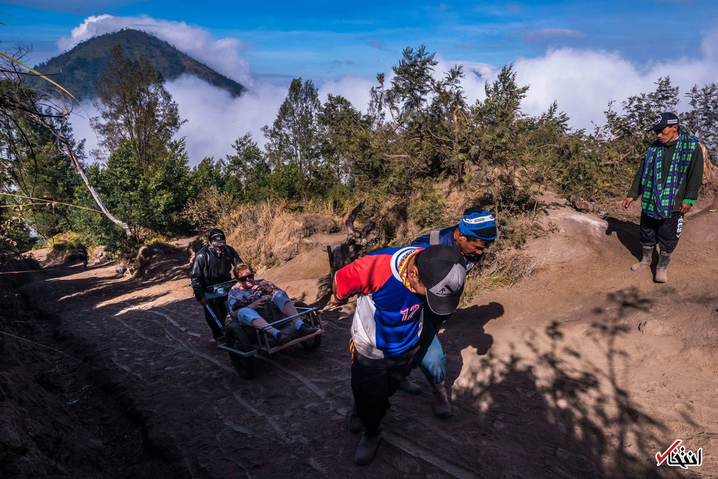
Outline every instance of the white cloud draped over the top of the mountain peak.
<svg viewBox="0 0 718 479"><path fill-rule="evenodd" d="M242 42L236 38L213 39L204 29L190 27L185 22L156 20L151 16L88 16L73 28L70 37L57 41L60 49L71 49L76 44L98 35L118 32L123 28L137 29L173 44L195 60L214 68L221 74L252 87L249 63L241 56Z"/></svg>

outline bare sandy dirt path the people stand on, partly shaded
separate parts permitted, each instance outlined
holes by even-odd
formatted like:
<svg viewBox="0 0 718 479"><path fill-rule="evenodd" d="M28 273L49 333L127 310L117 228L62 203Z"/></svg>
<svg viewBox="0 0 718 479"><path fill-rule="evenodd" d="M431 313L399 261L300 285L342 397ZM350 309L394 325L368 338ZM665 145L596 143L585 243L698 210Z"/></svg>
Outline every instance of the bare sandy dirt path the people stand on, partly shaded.
<svg viewBox="0 0 718 479"><path fill-rule="evenodd" d="M607 221L547 198L557 232L526 247L533 273L444 323L453 415L429 385L391 399L376 460L353 462L351 308L325 310L318 351L258 356L241 379L188 285L187 242L154 252L143 280L114 265L48 270L25 285L62 318L58 344L95 371L146 432L167 471L195 478L602 478L718 476L718 213L686 215L668 269L630 271L638 208ZM325 305L325 245L266 278ZM655 262L654 262L655 263ZM656 465L675 440L703 464ZM167 472L166 471L166 472Z"/></svg>

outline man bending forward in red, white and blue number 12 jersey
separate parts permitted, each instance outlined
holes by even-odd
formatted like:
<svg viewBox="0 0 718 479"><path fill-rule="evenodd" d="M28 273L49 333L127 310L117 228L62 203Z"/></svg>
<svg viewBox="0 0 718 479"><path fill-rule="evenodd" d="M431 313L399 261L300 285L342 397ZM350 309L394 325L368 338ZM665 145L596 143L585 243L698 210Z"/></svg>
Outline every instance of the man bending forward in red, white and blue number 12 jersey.
<svg viewBox="0 0 718 479"><path fill-rule="evenodd" d="M336 272L331 303L358 294L352 323L352 393L349 430L364 430L354 460L373 460L381 419L419 350L424 304L439 315L453 313L464 289L466 267L452 247L386 248ZM427 309L429 309L427 308Z"/></svg>

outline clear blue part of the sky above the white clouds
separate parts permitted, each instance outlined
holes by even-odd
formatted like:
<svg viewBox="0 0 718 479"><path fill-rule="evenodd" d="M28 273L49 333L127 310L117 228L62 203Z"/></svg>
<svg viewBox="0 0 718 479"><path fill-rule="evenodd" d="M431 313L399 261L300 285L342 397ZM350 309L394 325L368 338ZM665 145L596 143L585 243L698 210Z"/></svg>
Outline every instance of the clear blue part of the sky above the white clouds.
<svg viewBox="0 0 718 479"><path fill-rule="evenodd" d="M92 15L146 14L232 37L256 75L376 75L406 46L447 59L504 65L549 47L617 51L638 65L699 52L718 1L1 1L3 43L57 54L57 40ZM704 22L705 20L705 22ZM671 47L668 47L668 44ZM663 47L661 47L663 46Z"/></svg>

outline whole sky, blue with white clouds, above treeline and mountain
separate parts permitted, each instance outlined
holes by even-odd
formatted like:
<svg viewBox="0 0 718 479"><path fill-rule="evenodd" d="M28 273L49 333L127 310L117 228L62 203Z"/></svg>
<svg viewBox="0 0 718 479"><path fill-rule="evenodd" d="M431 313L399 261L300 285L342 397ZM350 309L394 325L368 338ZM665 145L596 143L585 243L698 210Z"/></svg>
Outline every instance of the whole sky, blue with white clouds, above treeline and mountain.
<svg viewBox="0 0 718 479"><path fill-rule="evenodd" d="M190 79L168 85L190 120L182 132L188 143L205 138L193 143L195 156L221 156L246 131L261 142L258 129L271 123L292 77L363 109L376 74L391 72L404 47L420 44L437 52L437 75L465 65L470 101L515 62L517 80L531 85L526 113L558 100L577 128L601 123L609 101L648 93L661 76L682 93L718 82L716 0L0 0L0 12L17 29L0 26L2 47L32 44L33 65L94 34L134 27L248 86L250 94L233 103ZM216 108L213 117L230 126L203 132L208 122L192 108ZM224 149L213 150L217 143Z"/></svg>

